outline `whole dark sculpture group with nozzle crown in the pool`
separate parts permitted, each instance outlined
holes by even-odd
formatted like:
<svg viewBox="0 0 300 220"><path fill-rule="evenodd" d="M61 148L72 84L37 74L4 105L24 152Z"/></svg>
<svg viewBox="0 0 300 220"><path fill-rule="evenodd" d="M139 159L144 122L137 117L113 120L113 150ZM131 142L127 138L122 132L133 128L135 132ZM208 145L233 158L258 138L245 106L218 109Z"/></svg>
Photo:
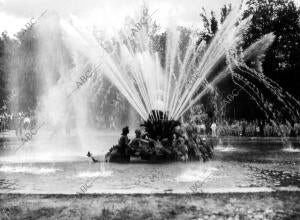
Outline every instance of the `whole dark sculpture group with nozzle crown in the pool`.
<svg viewBox="0 0 300 220"><path fill-rule="evenodd" d="M213 157L212 141L204 141L193 124L169 120L162 111L153 110L147 121L129 140L129 128L122 129L119 143L105 155L106 162L130 162L138 158L151 162L200 161Z"/></svg>

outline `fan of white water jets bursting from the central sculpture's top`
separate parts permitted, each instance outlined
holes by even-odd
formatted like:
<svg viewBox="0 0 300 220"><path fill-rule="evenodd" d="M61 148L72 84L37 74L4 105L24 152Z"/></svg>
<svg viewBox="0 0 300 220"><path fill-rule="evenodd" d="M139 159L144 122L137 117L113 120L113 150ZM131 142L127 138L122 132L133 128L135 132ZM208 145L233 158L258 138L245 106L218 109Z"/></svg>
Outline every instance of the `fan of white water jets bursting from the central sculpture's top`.
<svg viewBox="0 0 300 220"><path fill-rule="evenodd" d="M251 22L251 17L241 20L243 8L236 7L230 13L208 46L204 42L199 44L198 36L192 33L187 47L182 50L180 31L170 25L167 30L165 66L160 62L157 48L153 48L153 40L148 33L150 24L146 24L133 39L128 33L123 33L112 46L115 50L110 58L104 61L103 73L144 120L148 119L152 110L164 112L169 120L178 120L211 87L217 86L228 76L232 76L234 82L253 99L258 99L256 102L260 106L263 106L259 101L261 94L254 84L247 81L247 75L258 78L273 94L283 97L280 87L245 64L249 60L257 63L263 60L264 53L275 38L272 33L246 48L243 53L238 53L243 35ZM227 65L218 69L224 62ZM203 86L204 82L209 84ZM283 106L293 107L289 100L280 99Z"/></svg>

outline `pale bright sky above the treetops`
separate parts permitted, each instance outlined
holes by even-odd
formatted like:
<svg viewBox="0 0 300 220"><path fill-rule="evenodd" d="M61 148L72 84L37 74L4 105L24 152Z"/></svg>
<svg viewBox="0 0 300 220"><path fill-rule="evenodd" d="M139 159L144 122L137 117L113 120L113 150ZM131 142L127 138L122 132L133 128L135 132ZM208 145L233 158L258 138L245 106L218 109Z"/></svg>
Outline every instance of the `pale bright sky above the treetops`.
<svg viewBox="0 0 300 220"><path fill-rule="evenodd" d="M133 17L143 3L153 18L165 27L170 18L177 24L195 27L200 24L201 8L219 10L225 3L239 0L0 0L0 32L10 36L25 27L30 19L45 10L55 11L62 18L78 18L87 27L115 30L126 16ZM48 13L47 12L47 13Z"/></svg>

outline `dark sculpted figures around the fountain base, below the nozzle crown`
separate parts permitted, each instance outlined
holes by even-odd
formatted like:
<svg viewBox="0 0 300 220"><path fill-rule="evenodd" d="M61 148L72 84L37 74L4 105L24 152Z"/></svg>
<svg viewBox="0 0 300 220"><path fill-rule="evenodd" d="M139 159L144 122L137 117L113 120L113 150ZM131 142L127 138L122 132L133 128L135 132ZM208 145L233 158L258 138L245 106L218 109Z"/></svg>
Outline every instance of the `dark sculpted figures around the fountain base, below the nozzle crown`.
<svg viewBox="0 0 300 220"><path fill-rule="evenodd" d="M135 131L135 138L127 137L128 127L123 128L119 143L106 154L106 162L129 162L130 157L151 162L200 161L213 157L213 146L204 140L194 125L176 126L171 138L157 134L155 139L147 132Z"/></svg>

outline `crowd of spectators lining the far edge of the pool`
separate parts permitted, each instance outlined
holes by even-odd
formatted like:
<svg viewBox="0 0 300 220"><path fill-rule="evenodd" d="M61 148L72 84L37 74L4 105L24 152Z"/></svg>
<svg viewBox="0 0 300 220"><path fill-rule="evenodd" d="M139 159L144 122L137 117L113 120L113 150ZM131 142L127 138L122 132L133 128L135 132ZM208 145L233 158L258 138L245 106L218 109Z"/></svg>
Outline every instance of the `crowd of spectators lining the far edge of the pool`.
<svg viewBox="0 0 300 220"><path fill-rule="evenodd" d="M9 112L6 108L0 108L0 132L15 130L17 136L22 136L24 130L33 129L36 124L35 113L32 110L27 112ZM71 123L67 123L71 124ZM246 136L246 137L298 137L300 136L300 123L290 124L280 123L272 124L262 120L246 121L209 121L196 120L188 121L185 125L194 124L200 135L217 136ZM109 127L117 129L116 125ZM66 132L70 133L70 126L67 126Z"/></svg>

